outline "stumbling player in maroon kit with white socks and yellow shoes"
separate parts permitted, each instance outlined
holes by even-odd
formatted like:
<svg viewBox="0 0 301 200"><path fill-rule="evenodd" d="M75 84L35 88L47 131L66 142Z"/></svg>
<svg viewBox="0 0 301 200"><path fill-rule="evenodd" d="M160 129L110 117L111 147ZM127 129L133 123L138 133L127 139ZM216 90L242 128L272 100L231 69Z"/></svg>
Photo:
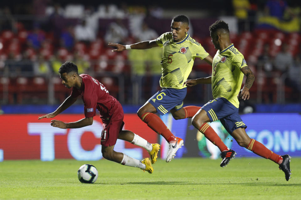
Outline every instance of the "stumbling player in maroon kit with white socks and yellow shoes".
<svg viewBox="0 0 301 200"><path fill-rule="evenodd" d="M74 63L64 63L60 67L59 73L62 84L67 88L72 87L71 95L53 113L43 115L39 119L54 118L76 102L78 96L81 96L84 102L85 118L71 123L51 120L50 125L58 128L81 128L92 125L97 109L103 122L101 136L103 158L153 173L154 169L151 163L156 162L160 145L150 144L135 133L129 130L122 130L124 113L119 101L112 97L103 84L99 83L95 78L87 74L78 75L77 66ZM122 139L145 148L149 152L151 160L145 158L140 161L124 153L115 152L114 145L117 139Z"/></svg>

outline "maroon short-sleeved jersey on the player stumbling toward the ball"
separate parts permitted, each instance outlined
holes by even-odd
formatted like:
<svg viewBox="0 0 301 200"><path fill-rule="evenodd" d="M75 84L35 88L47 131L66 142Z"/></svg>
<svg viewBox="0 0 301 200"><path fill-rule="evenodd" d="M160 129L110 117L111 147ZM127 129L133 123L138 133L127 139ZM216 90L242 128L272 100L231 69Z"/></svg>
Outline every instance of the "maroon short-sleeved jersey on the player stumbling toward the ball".
<svg viewBox="0 0 301 200"><path fill-rule="evenodd" d="M80 89L73 87L71 97L77 98L81 95L86 118L94 117L96 109L103 120L110 118L117 110L119 111L120 103L109 94L103 84L87 74L80 76L82 77L82 86Z"/></svg>

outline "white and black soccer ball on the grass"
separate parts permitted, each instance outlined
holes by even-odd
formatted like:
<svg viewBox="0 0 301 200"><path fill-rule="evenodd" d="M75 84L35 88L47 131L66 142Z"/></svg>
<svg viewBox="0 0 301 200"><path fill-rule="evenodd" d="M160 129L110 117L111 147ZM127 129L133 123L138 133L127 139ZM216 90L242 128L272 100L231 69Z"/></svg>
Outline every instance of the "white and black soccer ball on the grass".
<svg viewBox="0 0 301 200"><path fill-rule="evenodd" d="M82 183L95 183L98 178L98 171L93 165L84 164L78 169L77 177Z"/></svg>

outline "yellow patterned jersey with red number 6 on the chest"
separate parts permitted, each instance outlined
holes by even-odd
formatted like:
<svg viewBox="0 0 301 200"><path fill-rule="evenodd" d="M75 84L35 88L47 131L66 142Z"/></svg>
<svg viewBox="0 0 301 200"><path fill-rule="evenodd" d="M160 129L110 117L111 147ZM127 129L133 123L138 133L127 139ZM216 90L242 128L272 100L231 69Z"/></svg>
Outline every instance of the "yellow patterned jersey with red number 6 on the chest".
<svg viewBox="0 0 301 200"><path fill-rule="evenodd" d="M182 85L191 72L194 58L198 57L203 60L209 53L187 33L185 39L174 42L172 32L166 32L158 37L156 42L159 47L163 48L161 88L182 89L187 87Z"/></svg>

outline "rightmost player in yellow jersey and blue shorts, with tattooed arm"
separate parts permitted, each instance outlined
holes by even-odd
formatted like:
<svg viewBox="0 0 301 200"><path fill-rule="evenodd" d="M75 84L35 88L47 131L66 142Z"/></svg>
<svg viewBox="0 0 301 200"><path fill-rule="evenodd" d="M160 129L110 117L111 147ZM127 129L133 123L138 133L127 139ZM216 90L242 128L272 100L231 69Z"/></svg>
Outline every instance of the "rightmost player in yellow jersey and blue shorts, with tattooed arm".
<svg viewBox="0 0 301 200"><path fill-rule="evenodd" d="M218 135L207 122L220 120L224 128L244 148L249 149L257 155L270 159L279 164L285 178L288 181L291 177L290 156L280 156L267 149L255 139L249 138L245 129L247 126L238 114L238 98L249 99L251 88L255 77L247 66L244 56L230 43L228 24L222 20L216 21L209 27L210 36L215 49L218 49L212 64L212 76L187 80L184 84L192 87L199 83L212 84L214 100L206 103L198 113L193 116L192 123L201 133L214 143L221 151L223 158L221 167L226 166L230 159L235 157L235 151L227 148ZM246 75L246 83L240 90L242 79Z"/></svg>

